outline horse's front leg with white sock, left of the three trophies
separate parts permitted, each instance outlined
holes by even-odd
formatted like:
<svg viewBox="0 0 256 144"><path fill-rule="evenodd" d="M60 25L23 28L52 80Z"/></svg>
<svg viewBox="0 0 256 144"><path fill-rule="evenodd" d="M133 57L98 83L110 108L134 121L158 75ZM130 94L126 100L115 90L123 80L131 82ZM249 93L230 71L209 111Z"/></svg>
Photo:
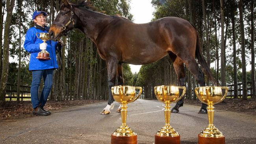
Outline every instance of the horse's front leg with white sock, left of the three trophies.
<svg viewBox="0 0 256 144"><path fill-rule="evenodd" d="M110 110L112 110L115 106L114 98L111 93L111 87L115 86L115 79L117 74L117 61L114 59L108 60L107 62L107 69L108 69L108 105L103 109L100 114L109 114Z"/></svg>

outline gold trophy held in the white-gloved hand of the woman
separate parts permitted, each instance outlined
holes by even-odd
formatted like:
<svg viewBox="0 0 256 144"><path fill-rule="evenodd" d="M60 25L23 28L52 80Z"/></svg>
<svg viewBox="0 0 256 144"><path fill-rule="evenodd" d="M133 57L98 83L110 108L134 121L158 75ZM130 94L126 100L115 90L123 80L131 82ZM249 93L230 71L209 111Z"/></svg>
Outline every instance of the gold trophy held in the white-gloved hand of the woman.
<svg viewBox="0 0 256 144"><path fill-rule="evenodd" d="M38 33L36 33L35 35L37 36ZM42 41L44 41L44 43L46 43L46 41L48 41L50 39L49 37L49 33L39 33L39 37L37 36L38 39L41 39ZM41 50L41 52L39 52L37 54L37 59L43 59L43 60L49 60L50 58L50 54L46 51L46 50Z"/></svg>

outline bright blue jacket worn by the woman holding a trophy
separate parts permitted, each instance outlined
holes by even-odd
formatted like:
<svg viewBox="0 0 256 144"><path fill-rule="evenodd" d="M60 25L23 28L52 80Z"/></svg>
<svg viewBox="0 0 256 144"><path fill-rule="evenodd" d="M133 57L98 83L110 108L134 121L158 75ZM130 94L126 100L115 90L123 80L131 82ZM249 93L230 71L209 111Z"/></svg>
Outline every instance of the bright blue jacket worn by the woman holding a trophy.
<svg viewBox="0 0 256 144"><path fill-rule="evenodd" d="M24 48L30 53L30 63L29 70L46 70L46 69L56 69L58 68L58 63L56 59L56 47L58 42L51 40L46 41L47 48L46 51L50 54L50 60L39 60L36 59L37 54L41 51L39 44L43 43L41 39L36 37L36 33L48 33L49 27L42 28L41 26L34 26L28 29L26 33L26 38L24 41ZM37 34L39 36L39 34Z"/></svg>

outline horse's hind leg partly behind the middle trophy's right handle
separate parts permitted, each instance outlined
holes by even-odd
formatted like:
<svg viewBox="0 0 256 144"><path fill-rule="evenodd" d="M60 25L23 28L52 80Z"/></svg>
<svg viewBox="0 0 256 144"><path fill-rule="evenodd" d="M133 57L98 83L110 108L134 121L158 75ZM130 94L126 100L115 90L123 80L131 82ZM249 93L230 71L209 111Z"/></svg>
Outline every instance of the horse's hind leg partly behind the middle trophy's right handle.
<svg viewBox="0 0 256 144"><path fill-rule="evenodd" d="M173 53L170 53L169 56L173 61L173 67L177 74L179 85L185 86L186 74L185 74L183 61L181 61L181 59L179 57L176 57L176 55L174 55ZM182 94L182 89L180 89L179 93ZM176 105L171 110L171 113L178 113L179 107L182 107L183 103L184 103L184 97L176 103Z"/></svg>

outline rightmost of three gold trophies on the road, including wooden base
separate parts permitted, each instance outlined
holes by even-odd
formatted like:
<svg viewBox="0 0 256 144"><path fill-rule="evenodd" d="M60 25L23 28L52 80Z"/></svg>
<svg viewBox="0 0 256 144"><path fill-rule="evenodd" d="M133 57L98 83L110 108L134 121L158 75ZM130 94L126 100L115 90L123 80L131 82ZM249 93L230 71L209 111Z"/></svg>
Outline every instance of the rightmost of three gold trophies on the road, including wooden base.
<svg viewBox="0 0 256 144"><path fill-rule="evenodd" d="M228 87L196 87L197 98L208 105L209 125L198 134L198 144L225 144L225 137L213 125L214 107L216 103L222 102L228 93Z"/></svg>

